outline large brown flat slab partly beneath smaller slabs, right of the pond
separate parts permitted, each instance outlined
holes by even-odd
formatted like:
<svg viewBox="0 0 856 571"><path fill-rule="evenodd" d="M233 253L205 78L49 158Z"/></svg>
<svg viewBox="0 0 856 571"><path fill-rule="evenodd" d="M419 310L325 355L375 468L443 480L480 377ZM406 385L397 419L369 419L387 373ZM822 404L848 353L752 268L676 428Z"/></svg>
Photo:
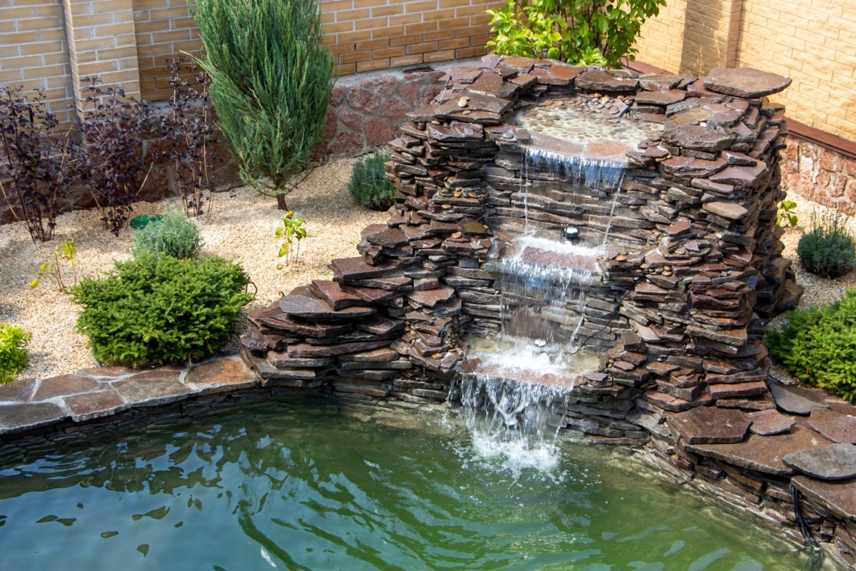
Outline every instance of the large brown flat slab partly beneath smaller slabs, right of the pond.
<svg viewBox="0 0 856 571"><path fill-rule="evenodd" d="M790 476L794 473L794 468L782 462L784 456L800 450L824 448L831 443L810 428L795 425L790 432L775 436L752 434L741 443L687 444L684 448L693 454L710 456L748 470L774 476Z"/></svg>

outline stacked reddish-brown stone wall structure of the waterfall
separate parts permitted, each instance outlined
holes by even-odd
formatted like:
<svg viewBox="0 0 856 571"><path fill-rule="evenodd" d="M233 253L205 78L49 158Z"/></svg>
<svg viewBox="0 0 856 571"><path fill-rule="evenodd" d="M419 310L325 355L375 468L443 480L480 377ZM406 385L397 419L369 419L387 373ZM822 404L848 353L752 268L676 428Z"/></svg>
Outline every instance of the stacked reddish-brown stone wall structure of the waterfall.
<svg viewBox="0 0 856 571"><path fill-rule="evenodd" d="M446 398L461 334L498 330L495 261L523 224L525 193L529 224L603 233L611 220L631 245L600 261L581 336L615 347L578 379L574 429L644 437L627 422L633 405L658 421L700 405L769 407L758 313L800 293L773 223L783 110L764 98L787 83L764 74L772 84L759 91L720 73L636 78L500 57L451 72L389 143L388 223L366 229L359 257L333 261L332 280L254 312L247 362L269 384ZM615 212L602 190L523 172L531 134L508 120L555 92L601 101L606 116L664 123L662 138L627 153Z"/></svg>

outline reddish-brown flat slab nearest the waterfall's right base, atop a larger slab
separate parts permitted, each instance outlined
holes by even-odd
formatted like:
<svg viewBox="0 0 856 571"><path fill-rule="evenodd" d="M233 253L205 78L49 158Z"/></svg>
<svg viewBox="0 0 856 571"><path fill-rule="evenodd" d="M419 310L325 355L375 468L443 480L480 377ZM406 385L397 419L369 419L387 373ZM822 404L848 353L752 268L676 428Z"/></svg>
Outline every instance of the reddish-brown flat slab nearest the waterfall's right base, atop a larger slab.
<svg viewBox="0 0 856 571"><path fill-rule="evenodd" d="M698 407L669 416L669 425L690 444L739 443L751 424L736 408Z"/></svg>

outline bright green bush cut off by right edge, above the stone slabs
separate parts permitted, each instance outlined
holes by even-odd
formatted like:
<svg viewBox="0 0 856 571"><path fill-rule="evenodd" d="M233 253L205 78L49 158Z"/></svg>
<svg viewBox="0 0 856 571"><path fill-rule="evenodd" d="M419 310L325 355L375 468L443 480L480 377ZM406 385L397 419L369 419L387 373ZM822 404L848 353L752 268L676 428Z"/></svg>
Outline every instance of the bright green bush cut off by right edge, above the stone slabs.
<svg viewBox="0 0 856 571"><path fill-rule="evenodd" d="M788 312L766 343L800 381L856 402L856 288L832 305Z"/></svg>

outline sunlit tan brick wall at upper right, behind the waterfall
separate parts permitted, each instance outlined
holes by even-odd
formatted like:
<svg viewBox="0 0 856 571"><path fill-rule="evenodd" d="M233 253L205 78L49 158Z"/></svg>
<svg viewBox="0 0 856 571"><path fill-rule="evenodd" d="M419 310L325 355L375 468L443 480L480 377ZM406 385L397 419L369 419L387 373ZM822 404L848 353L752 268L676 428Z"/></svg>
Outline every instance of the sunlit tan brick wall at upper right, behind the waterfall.
<svg viewBox="0 0 856 571"><path fill-rule="evenodd" d="M638 59L693 74L725 62L787 75L794 83L772 99L787 106L789 117L856 141L856 2L736 3L669 3L643 27ZM711 4L716 9L705 8ZM719 24L714 23L717 11ZM740 21L740 27L732 26L723 38L729 18Z"/></svg>

